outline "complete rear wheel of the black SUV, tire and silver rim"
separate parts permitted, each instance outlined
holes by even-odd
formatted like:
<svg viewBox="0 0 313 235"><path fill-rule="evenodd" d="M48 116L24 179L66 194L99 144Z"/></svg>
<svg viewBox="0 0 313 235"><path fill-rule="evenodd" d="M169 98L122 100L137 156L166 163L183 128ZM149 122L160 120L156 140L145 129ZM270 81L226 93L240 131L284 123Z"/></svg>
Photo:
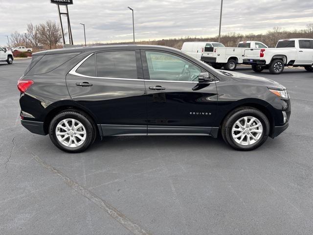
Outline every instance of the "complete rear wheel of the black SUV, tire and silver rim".
<svg viewBox="0 0 313 235"><path fill-rule="evenodd" d="M72 120L74 120L74 128L66 128L67 126L73 127ZM82 126L76 129L75 127L79 125ZM60 135L60 133L64 133L64 135ZM84 113L64 111L51 120L49 124L49 137L59 149L69 153L79 153L85 151L94 142L96 129L90 118Z"/></svg>

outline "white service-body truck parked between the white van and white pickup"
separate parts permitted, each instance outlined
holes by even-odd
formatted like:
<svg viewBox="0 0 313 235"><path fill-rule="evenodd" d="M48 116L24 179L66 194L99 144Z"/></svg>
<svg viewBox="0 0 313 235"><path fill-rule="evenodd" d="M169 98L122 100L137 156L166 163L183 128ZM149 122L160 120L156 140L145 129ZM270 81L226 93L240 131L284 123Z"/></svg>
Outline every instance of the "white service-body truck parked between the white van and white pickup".
<svg viewBox="0 0 313 235"><path fill-rule="evenodd" d="M268 48L264 43L256 41L240 42L237 47L212 47L204 51L201 60L211 64L216 69L236 70L237 64L242 64L246 48Z"/></svg>

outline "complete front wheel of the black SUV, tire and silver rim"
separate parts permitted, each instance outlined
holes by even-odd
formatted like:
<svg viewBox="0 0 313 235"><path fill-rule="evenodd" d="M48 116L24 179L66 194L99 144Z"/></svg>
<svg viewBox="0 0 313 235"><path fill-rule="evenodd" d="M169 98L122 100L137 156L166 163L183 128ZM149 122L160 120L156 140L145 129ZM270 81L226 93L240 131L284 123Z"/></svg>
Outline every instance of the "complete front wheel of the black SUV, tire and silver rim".
<svg viewBox="0 0 313 235"><path fill-rule="evenodd" d="M239 123L243 125L245 117L248 117L248 124L246 124L248 128L243 128L244 126L240 127L237 124L237 121L239 121ZM255 118L255 120L249 124L249 121L252 120L251 118ZM224 119L221 134L224 141L232 148L241 151L249 151L260 147L268 139L269 131L269 121L264 113L252 107L240 107L232 111ZM238 137L235 138L236 136Z"/></svg>

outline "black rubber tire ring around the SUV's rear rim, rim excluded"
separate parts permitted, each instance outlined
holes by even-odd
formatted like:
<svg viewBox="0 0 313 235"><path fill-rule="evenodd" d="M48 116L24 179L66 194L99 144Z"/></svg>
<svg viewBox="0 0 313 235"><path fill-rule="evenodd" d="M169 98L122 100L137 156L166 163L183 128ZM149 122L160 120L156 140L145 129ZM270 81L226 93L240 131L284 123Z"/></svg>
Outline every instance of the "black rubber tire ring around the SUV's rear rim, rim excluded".
<svg viewBox="0 0 313 235"><path fill-rule="evenodd" d="M87 136L86 136L85 142L82 145L71 148L71 147L67 147L63 145L57 139L56 134L55 134L56 127L60 121L67 119L67 118L76 119L84 125ZM94 131L94 128L92 127L91 122L88 120L88 118L86 118L85 116L79 113L69 111L69 112L63 112L52 119L49 125L49 137L51 141L54 143L54 145L56 145L59 149L66 151L66 152L70 152L70 153L78 153L78 152L82 152L86 150L92 144L92 142L95 139L94 138L95 131Z"/></svg>

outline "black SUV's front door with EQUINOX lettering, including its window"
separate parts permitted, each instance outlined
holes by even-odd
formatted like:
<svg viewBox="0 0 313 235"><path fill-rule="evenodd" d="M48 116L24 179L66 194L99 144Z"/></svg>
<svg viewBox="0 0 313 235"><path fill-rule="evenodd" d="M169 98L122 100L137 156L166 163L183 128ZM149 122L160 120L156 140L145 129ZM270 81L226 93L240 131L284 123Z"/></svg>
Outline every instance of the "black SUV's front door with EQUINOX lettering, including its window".
<svg viewBox="0 0 313 235"><path fill-rule="evenodd" d="M204 69L178 54L141 50L148 135L209 135L217 111L216 81L199 86Z"/></svg>

